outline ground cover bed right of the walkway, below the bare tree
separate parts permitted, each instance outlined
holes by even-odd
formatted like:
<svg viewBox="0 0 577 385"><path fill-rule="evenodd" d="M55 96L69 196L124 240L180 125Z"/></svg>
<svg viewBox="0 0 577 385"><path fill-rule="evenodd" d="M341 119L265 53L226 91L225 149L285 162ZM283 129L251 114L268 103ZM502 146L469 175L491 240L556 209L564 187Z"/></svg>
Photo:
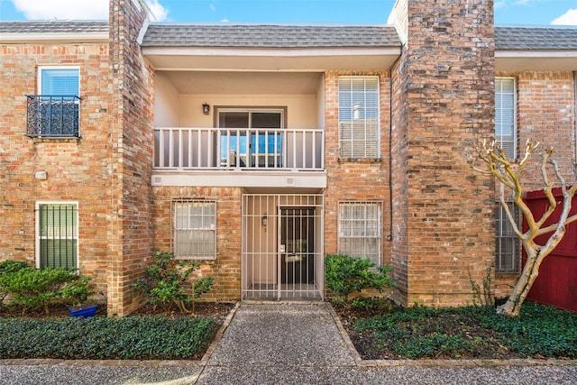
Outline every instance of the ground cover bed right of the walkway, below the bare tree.
<svg viewBox="0 0 577 385"><path fill-rule="evenodd" d="M577 314L532 302L513 318L487 306L336 310L363 359L577 358Z"/></svg>

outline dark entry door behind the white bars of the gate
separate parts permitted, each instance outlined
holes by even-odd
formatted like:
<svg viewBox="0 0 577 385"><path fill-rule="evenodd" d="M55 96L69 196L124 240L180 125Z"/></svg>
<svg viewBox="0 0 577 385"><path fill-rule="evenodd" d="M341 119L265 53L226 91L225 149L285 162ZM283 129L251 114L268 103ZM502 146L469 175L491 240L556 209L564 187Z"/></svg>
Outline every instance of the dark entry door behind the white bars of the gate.
<svg viewBox="0 0 577 385"><path fill-rule="evenodd" d="M315 291L315 208L280 208L279 293L308 297Z"/></svg>

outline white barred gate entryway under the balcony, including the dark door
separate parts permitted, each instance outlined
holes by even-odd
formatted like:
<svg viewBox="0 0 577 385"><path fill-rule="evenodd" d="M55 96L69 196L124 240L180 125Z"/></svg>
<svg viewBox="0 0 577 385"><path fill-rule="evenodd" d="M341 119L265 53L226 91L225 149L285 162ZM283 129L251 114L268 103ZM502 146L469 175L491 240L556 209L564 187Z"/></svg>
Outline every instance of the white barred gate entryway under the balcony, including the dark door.
<svg viewBox="0 0 577 385"><path fill-rule="evenodd" d="M323 196L243 195L243 298L323 298Z"/></svg>

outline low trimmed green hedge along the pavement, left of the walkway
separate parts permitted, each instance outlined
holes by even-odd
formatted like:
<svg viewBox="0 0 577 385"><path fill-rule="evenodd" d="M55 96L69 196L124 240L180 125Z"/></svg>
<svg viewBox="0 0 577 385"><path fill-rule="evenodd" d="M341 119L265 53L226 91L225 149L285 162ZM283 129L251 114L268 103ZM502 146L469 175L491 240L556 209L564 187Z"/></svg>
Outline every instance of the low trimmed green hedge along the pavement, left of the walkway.
<svg viewBox="0 0 577 385"><path fill-rule="evenodd" d="M0 318L0 358L196 360L212 318Z"/></svg>

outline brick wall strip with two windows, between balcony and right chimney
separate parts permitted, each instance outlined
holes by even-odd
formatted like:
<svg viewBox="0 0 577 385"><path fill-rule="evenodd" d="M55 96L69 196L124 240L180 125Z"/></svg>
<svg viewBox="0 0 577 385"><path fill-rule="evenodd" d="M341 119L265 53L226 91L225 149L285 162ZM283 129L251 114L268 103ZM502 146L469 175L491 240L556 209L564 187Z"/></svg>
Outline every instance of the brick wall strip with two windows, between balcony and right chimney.
<svg viewBox="0 0 577 385"><path fill-rule="evenodd" d="M339 159L338 78L339 76L379 76L380 79L380 159ZM390 263L389 206L389 84L388 72L325 73L325 254L337 252L338 203L343 200L381 202L383 263Z"/></svg>

